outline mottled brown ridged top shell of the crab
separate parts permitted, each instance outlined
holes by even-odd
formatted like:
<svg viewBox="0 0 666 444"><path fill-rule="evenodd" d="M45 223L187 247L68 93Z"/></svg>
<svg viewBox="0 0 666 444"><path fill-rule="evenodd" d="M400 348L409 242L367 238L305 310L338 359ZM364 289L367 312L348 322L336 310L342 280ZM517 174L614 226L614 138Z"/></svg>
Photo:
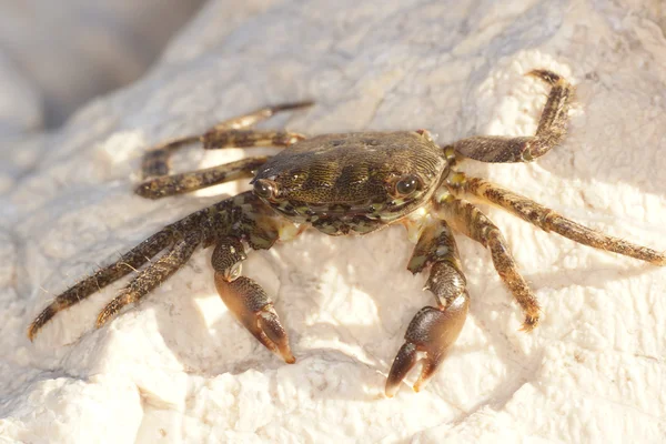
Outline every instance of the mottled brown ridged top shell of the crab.
<svg viewBox="0 0 666 444"><path fill-rule="evenodd" d="M280 200L332 204L383 202L392 180L416 174L424 191L442 178L446 160L427 133L323 134L300 141L270 159L255 180L280 184Z"/></svg>

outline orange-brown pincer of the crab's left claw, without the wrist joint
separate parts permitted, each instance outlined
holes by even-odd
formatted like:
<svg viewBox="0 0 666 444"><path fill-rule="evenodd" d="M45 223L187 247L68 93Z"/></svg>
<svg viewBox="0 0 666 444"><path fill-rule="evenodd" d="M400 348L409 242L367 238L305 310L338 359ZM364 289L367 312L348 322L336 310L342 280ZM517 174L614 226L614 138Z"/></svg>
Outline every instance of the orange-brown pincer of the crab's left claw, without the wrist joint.
<svg viewBox="0 0 666 444"><path fill-rule="evenodd" d="M287 364L296 362L273 301L256 282L245 276L229 281L225 273L215 272L215 287L224 304L259 342Z"/></svg>

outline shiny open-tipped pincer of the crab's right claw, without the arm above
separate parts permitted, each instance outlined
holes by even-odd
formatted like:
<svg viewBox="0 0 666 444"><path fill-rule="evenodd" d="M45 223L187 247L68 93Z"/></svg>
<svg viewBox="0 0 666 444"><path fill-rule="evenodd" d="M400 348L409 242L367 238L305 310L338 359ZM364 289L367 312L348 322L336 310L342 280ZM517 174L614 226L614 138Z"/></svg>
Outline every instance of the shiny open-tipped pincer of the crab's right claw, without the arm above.
<svg viewBox="0 0 666 444"><path fill-rule="evenodd" d="M463 330L468 305L470 296L465 291L445 307L425 306L416 313L386 379L386 396L395 395L404 377L416 365L418 352L424 352L425 356L421 360L423 367L414 391L418 392L427 384Z"/></svg>

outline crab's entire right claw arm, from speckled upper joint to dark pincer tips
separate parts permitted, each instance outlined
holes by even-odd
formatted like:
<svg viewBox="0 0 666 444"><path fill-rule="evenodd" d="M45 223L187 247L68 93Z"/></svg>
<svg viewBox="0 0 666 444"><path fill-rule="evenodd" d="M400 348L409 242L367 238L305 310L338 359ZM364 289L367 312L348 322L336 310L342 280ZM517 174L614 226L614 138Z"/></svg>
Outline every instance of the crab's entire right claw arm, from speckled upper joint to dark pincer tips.
<svg viewBox="0 0 666 444"><path fill-rule="evenodd" d="M437 306L425 306L416 313L405 333L405 344L400 349L389 377L386 396L393 397L407 373L416 365L418 352L425 352L423 366L414 391L422 390L455 342L467 317L470 296L461 268L457 248L448 224L432 221L423 230L407 270L418 273L431 266L424 290L430 290Z"/></svg>

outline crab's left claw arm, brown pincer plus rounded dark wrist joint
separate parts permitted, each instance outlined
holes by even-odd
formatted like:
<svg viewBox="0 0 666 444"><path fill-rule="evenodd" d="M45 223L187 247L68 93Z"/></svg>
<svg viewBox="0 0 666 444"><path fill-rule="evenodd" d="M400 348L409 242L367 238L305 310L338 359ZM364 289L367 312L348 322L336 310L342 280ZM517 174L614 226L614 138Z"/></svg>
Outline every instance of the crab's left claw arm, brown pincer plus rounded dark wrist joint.
<svg viewBox="0 0 666 444"><path fill-rule="evenodd" d="M253 280L241 276L241 261L245 251L238 238L218 242L211 262L215 270L215 287L220 297L236 320L271 352L284 362L296 362L289 345L289 336L273 307L273 301Z"/></svg>

